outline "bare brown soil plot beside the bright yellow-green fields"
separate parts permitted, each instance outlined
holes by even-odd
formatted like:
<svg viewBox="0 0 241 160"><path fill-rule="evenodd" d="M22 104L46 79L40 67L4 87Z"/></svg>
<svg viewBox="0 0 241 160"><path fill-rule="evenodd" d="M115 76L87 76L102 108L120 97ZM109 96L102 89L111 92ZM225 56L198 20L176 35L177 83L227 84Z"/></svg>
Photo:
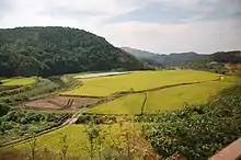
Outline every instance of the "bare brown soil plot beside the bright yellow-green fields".
<svg viewBox="0 0 241 160"><path fill-rule="evenodd" d="M18 107L32 110L78 110L95 104L99 101L100 99L94 98L50 95L21 103Z"/></svg>

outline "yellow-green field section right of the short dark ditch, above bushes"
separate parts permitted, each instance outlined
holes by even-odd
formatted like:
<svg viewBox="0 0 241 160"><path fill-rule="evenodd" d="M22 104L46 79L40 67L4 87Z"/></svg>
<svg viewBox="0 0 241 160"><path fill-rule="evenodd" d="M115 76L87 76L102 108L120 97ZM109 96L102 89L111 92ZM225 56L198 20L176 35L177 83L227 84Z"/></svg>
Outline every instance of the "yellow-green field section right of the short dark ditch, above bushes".
<svg viewBox="0 0 241 160"><path fill-rule="evenodd" d="M202 104L230 85L231 82L216 81L149 92L145 113L179 110L184 104Z"/></svg>

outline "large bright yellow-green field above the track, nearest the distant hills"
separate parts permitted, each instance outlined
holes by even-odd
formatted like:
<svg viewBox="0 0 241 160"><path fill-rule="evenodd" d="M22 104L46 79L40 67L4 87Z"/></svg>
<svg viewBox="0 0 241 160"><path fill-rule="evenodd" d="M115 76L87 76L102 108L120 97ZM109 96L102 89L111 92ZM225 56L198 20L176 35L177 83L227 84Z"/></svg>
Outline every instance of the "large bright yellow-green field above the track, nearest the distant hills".
<svg viewBox="0 0 241 160"><path fill-rule="evenodd" d="M82 87L61 94L107 96L122 91L139 91L168 84L208 81L217 79L218 76L195 70L135 71L129 75L83 79L81 80Z"/></svg>

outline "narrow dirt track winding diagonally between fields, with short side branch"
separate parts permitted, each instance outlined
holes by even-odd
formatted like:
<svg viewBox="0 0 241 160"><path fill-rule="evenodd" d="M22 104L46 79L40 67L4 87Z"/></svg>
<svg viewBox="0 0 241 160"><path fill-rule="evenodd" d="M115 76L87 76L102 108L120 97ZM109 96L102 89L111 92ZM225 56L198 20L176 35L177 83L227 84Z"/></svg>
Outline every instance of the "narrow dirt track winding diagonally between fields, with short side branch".
<svg viewBox="0 0 241 160"><path fill-rule="evenodd" d="M112 95L107 96L106 99L104 99L102 101L99 101L99 103L93 104L93 105L89 106L88 108L94 107L96 105L104 104L104 103L107 103L107 102L112 102L112 101L114 101L116 99L119 99L122 96L125 96L125 95L135 94L135 93L146 93L145 94L144 104L142 104L142 108L141 108L141 113L142 113L142 111L145 108L146 101L147 101L147 96L148 96L147 92L164 90L164 89L170 89L170 88L175 88L175 87L181 87L181 85L192 85L192 84L206 83L206 82L211 82L211 81L220 81L220 80L221 80L220 78L217 78L217 79L209 80L209 81L199 81L199 82L190 82L190 83L177 83L177 84L163 85L163 87L158 87L158 88L152 88L152 89L147 89L147 90L141 90L141 91L118 92L118 93L115 93L115 94L112 94ZM57 129L60 129L60 128L62 128L62 127L65 127L67 125L74 124L78 121L78 117L88 108L83 107L83 108L79 110L70 118L68 118L66 122L64 122L62 125L54 127L54 128L50 128L50 129L47 129L47 130L44 130L42 133L38 133L37 135L35 135L35 138L37 138L39 136L43 136L43 135L46 135L46 134L49 134L49 133L55 132ZM22 144L22 142L27 142L31 139L32 139L32 137L15 139L13 141L9 141L9 142L0 145L0 148L14 146L16 144Z"/></svg>

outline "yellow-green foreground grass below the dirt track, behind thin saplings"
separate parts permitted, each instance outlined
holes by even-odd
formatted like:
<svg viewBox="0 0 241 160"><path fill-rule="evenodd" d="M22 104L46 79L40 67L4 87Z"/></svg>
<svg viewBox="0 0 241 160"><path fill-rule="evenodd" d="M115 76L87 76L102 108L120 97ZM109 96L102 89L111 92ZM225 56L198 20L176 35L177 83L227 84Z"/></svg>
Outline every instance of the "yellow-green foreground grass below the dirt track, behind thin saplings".
<svg viewBox="0 0 241 160"><path fill-rule="evenodd" d="M102 125L102 129L108 130L107 125ZM119 126L112 125L111 130L113 134L120 133ZM67 136L67 146L68 148L68 155L70 156L77 156L82 157L87 155L87 151L84 149L85 145L89 145L88 135L85 133L84 125L68 125L64 128L60 128L58 130L51 132L49 134L43 135L37 138L37 148L44 149L47 148L50 151L54 151L56 153L61 152L61 146L62 144L62 137ZM111 139L106 139L105 144L110 144ZM26 149L30 148L31 145L28 142L25 144L19 144L14 146L15 149ZM8 148L4 148L8 149ZM11 148L10 148L11 149Z"/></svg>

